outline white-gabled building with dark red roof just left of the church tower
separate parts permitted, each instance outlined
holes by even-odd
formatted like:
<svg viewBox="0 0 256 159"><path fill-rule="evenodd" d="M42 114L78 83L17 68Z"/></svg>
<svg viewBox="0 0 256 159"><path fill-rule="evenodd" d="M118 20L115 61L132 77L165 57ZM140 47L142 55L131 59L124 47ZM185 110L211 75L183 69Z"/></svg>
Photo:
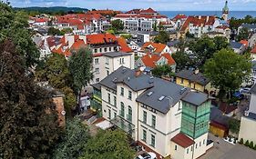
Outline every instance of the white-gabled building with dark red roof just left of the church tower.
<svg viewBox="0 0 256 159"><path fill-rule="evenodd" d="M181 26L179 32L183 37L188 32L195 37L201 37L201 35L213 32L215 28L219 25L220 21L214 15L189 16L184 24Z"/></svg>

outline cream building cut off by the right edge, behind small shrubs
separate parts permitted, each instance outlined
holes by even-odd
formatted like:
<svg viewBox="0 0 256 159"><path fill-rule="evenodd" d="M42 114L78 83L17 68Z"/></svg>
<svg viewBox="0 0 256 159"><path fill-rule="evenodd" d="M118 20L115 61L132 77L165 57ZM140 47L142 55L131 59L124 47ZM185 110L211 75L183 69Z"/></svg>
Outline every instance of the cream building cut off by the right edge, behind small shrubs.
<svg viewBox="0 0 256 159"><path fill-rule="evenodd" d="M249 110L245 111L245 114L241 116L241 126L239 132L239 140L241 138L244 142L247 140L256 143L256 84L251 87L251 100Z"/></svg>

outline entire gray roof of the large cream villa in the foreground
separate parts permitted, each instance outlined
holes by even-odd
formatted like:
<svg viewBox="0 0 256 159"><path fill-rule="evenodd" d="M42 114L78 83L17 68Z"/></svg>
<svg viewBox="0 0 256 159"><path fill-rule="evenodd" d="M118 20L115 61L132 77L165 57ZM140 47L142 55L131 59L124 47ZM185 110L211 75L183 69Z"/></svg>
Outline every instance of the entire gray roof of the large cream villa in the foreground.
<svg viewBox="0 0 256 159"><path fill-rule="evenodd" d="M118 70L100 81L99 84L116 91L118 83L128 85L128 87L135 92L145 90L145 92L138 96L136 101L141 104L146 104L163 114L167 114L169 112L171 102L172 105L174 105L178 103L179 100L183 100L184 97L185 99L183 101L188 102L189 104L200 104L208 99L208 96L203 93L195 92L189 94L190 89L184 89L184 87L179 84L174 84L142 73L136 76L135 73L136 70L131 70L127 67L121 66ZM163 96L162 100L160 100L161 96Z"/></svg>

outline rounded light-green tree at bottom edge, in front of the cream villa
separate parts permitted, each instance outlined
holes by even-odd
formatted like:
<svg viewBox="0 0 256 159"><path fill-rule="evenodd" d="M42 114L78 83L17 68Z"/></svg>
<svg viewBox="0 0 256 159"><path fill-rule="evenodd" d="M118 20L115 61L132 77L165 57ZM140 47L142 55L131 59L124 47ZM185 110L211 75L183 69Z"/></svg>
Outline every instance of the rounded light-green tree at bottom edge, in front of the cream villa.
<svg viewBox="0 0 256 159"><path fill-rule="evenodd" d="M101 130L88 141L85 154L80 159L130 159L134 154L127 134L119 130Z"/></svg>

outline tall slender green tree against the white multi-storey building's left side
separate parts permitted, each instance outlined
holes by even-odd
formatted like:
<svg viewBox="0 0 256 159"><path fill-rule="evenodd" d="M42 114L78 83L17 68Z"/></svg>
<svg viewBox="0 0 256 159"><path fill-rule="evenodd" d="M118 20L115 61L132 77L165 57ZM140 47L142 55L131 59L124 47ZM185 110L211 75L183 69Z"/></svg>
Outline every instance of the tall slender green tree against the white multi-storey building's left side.
<svg viewBox="0 0 256 159"><path fill-rule="evenodd" d="M92 72L92 52L89 48L80 48L76 52L73 51L69 59L69 70L74 79L77 89L78 101L82 88L86 86L93 78Z"/></svg>

